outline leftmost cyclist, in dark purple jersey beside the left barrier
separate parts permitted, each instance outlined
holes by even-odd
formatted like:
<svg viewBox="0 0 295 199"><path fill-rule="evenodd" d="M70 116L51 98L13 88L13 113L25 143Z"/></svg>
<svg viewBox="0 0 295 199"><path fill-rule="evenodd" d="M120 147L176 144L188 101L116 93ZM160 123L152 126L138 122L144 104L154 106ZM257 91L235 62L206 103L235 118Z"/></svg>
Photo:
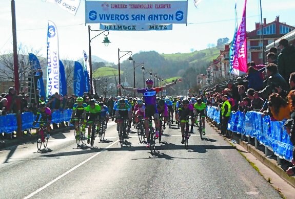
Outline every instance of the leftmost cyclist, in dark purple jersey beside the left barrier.
<svg viewBox="0 0 295 199"><path fill-rule="evenodd" d="M35 126L35 124L37 123L40 115L40 121L44 122L44 124L46 124L47 126L47 138L50 138L50 124L51 124L51 110L50 108L48 108L47 106L45 106L45 102L41 102L39 104L39 109L37 112L37 117L35 119L35 121L33 122L33 126Z"/></svg>

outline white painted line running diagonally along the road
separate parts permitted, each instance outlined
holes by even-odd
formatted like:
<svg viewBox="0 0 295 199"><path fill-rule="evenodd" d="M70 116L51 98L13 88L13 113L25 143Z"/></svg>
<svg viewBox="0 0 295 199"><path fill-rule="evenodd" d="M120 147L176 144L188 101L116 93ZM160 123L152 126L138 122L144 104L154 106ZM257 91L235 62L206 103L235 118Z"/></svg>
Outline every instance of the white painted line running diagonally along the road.
<svg viewBox="0 0 295 199"><path fill-rule="evenodd" d="M60 176L58 176L57 178L55 178L54 180L52 180L51 182L47 183L46 185L44 185L43 187L40 187L39 189L35 190L34 192L32 192L31 194L29 194L28 196L24 197L24 199L30 198L33 195L37 194L38 192L42 191L43 189L47 188L48 186L50 186L51 184L53 184L54 182L60 180L61 178L63 178L64 176L66 176L67 174L69 174L70 172L72 172L73 170L75 170L76 168L84 165L85 163L87 163L88 161L90 161L92 158L96 157L97 155L99 155L101 152L105 151L107 148L111 147L112 145L114 145L115 143L119 142L119 140L116 140L115 142L113 142L112 144L108 145L107 147L105 147L103 150L101 150L100 152L95 153L93 156L91 156L90 158L88 158L87 160L81 162L80 164L74 166L73 168L71 168L70 170L66 171L65 173L61 174Z"/></svg>

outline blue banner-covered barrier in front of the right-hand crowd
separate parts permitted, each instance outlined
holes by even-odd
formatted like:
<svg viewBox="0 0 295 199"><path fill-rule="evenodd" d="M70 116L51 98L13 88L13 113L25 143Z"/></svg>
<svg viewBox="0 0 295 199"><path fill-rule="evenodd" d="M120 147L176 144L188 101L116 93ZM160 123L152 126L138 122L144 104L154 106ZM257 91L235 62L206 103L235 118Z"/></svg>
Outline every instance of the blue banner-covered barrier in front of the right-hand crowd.
<svg viewBox="0 0 295 199"><path fill-rule="evenodd" d="M220 124L220 110L217 107L207 106L207 114L210 119ZM256 142L260 142L266 149L271 148L277 157L291 161L293 144L283 127L285 121L271 121L269 116L262 117L260 112L250 111L244 114L238 111L231 112L227 129L248 138L255 138L256 148Z"/></svg>

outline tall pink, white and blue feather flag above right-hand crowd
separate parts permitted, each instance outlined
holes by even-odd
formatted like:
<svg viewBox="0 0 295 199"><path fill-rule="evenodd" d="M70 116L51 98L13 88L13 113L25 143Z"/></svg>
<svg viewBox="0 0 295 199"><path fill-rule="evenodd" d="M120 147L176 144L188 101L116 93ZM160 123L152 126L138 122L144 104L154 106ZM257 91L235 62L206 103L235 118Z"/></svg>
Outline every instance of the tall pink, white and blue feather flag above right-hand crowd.
<svg viewBox="0 0 295 199"><path fill-rule="evenodd" d="M247 73L247 35L246 35L246 4L245 0L243 17L235 38L235 51L231 73L241 76Z"/></svg>

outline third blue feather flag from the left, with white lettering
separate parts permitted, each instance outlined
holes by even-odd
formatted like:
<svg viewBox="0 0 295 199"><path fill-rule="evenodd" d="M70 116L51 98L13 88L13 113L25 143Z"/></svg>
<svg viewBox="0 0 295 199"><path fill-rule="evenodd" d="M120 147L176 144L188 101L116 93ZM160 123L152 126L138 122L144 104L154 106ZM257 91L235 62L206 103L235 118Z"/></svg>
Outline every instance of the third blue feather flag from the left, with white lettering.
<svg viewBox="0 0 295 199"><path fill-rule="evenodd" d="M83 96L85 92L85 77L82 64L75 61L74 65L74 94L76 96Z"/></svg>

